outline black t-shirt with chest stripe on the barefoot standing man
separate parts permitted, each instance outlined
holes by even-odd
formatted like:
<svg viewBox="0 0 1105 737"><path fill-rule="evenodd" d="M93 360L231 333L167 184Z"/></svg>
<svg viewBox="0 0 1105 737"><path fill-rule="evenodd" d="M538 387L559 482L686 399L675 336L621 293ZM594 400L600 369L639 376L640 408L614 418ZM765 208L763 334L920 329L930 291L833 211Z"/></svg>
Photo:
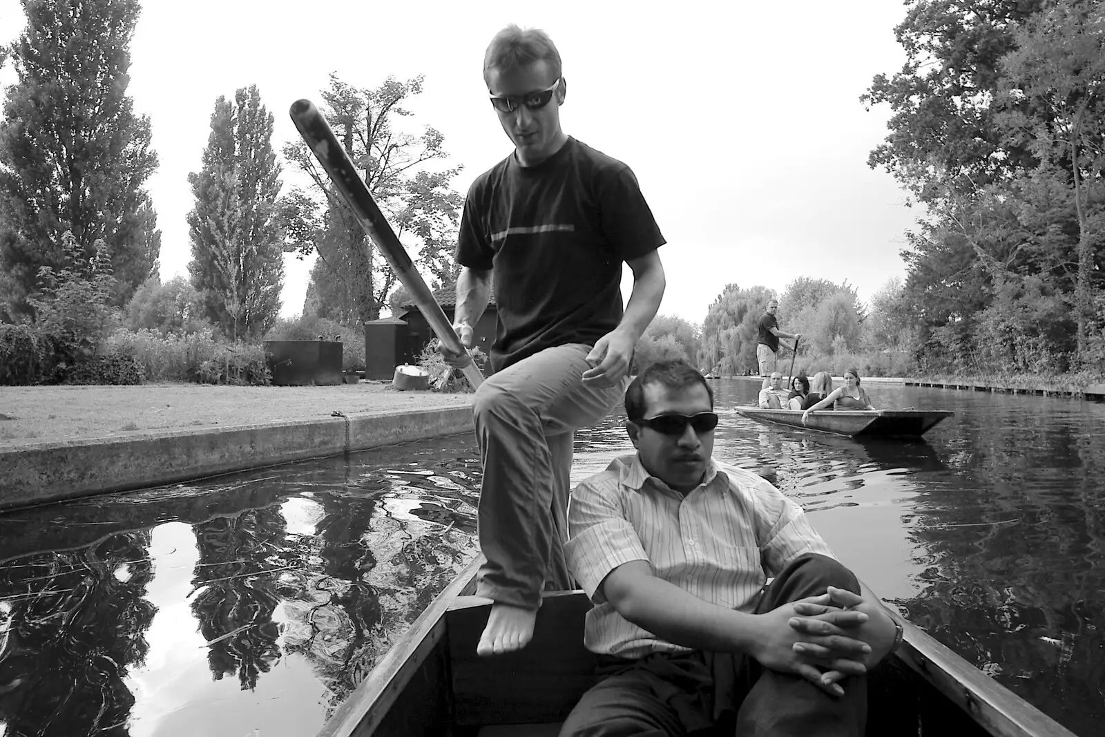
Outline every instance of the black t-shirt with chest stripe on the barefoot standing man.
<svg viewBox="0 0 1105 737"><path fill-rule="evenodd" d="M622 317L622 262L664 244L628 166L575 138L535 167L514 154L473 182L462 266L494 270L496 371L568 343L593 345Z"/></svg>

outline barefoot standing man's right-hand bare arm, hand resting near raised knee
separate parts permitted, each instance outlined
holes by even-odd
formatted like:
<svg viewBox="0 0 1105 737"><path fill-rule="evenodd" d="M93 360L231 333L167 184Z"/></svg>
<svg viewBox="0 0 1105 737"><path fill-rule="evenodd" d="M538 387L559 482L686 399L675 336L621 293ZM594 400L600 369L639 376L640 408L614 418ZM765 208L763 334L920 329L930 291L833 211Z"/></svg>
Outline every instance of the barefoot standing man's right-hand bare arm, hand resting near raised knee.
<svg viewBox="0 0 1105 737"><path fill-rule="evenodd" d="M592 365L583 371L583 381L612 387L629 371L638 340L656 316L664 297L666 281L660 253L651 251L625 262L633 271L633 292L621 322L610 333L599 338L587 360Z"/></svg>

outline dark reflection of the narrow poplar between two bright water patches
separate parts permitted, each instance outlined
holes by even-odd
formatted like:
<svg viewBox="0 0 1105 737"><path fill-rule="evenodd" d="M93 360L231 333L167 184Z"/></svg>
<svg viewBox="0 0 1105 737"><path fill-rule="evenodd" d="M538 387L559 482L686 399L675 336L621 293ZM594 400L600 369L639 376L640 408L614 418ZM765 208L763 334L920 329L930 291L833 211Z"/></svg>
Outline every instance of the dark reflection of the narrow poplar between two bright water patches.
<svg viewBox="0 0 1105 737"><path fill-rule="evenodd" d="M211 675L236 674L243 691L255 688L257 676L280 660L276 573L294 565L284 527L276 506L194 526L200 557L192 613L209 643Z"/></svg>

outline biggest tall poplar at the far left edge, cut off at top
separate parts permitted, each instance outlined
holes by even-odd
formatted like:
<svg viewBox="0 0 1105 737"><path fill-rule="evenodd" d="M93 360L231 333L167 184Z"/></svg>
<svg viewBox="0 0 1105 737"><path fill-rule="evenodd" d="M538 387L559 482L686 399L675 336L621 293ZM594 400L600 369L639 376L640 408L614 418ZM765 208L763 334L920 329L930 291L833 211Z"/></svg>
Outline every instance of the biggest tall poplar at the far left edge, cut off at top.
<svg viewBox="0 0 1105 737"><path fill-rule="evenodd" d="M30 316L39 271L63 266L72 232L91 257L110 246L122 305L157 271L160 231L145 190L157 168L150 125L127 96L137 0L24 0L27 28L4 51L17 82L0 123L0 307Z"/></svg>

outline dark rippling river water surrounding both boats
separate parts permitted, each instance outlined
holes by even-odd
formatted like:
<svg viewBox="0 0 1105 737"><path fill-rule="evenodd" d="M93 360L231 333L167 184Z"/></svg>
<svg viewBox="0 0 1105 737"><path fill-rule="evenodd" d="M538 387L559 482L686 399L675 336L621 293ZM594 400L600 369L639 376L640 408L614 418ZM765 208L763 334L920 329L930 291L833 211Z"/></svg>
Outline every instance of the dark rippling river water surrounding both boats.
<svg viewBox="0 0 1105 737"><path fill-rule="evenodd" d="M867 387L927 442L739 417L715 456L801 504L867 585L1076 734L1105 719L1105 406ZM631 446L578 433L573 478ZM475 554L469 435L0 515L0 737L315 734Z"/></svg>

